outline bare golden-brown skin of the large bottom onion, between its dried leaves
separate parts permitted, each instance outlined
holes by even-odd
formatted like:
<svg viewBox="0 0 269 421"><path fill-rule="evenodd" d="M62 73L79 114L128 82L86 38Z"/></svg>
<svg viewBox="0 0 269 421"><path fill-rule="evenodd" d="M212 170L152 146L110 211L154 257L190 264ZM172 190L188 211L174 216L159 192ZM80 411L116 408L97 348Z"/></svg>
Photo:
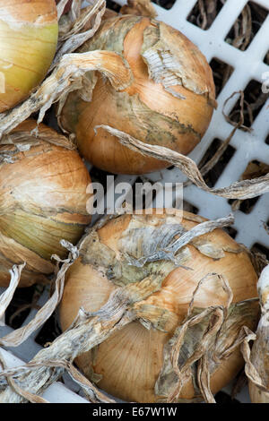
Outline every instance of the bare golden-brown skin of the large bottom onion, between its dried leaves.
<svg viewBox="0 0 269 421"><path fill-rule="evenodd" d="M108 250L114 251L117 261L121 262L125 251L123 238L126 240L126 245L132 241L130 227L158 228L164 222L180 223L189 230L195 227L197 219L188 212L184 213L182 221L177 216L125 215L108 221L97 233L100 244L108 247L107 254ZM154 241L152 237L153 235L148 237L149 243ZM97 383L100 389L116 398L131 402L158 402L160 399L163 401L163 396L155 394L154 387L164 364L164 347L173 336L178 324L186 318L194 290L198 282L208 273L221 273L228 280L233 292L232 305L256 297L257 276L248 254L219 228L199 238L216 248L233 250L233 253L224 252L223 257L216 260L201 253L196 246L187 245L186 251L190 254L185 264L192 270L178 267L171 271L162 281L161 289L143 301L144 319L147 317L147 308L161 308L161 311L169 312L170 316L163 331L146 329L136 320L113 332L98 347L76 358L76 364L91 381L97 380L100 376ZM137 241L139 249L141 242L139 239ZM98 311L108 301L111 292L118 287L113 278L108 279L104 270L106 253L100 254L100 266L91 262L91 259L98 261L93 247L94 245L89 248L84 245L80 257L66 273L65 291L60 305L60 322L64 331L74 322L81 307L85 311ZM215 278L203 283L195 296L195 308L199 309L226 303L227 295ZM258 317L258 304L256 304L254 314L250 315L249 312L247 315L242 315L242 319L237 321L238 325L236 319L230 324L229 331L226 332L229 345L233 339L238 338L242 325L250 328L256 326ZM242 366L243 359L237 347L230 357L223 358L221 364L216 365L211 373L210 383L213 393L228 384ZM194 385L189 381L184 385L178 401L195 401L197 398L201 400L201 395L197 397Z"/></svg>

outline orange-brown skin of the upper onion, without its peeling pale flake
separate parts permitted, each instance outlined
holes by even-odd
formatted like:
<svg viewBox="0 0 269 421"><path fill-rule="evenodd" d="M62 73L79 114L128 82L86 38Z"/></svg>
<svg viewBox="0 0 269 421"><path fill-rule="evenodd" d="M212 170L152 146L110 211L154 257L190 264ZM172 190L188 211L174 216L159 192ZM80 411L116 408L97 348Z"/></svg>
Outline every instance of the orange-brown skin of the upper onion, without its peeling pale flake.
<svg viewBox="0 0 269 421"><path fill-rule="evenodd" d="M115 41L110 45L109 39L116 37L114 32L119 37L126 24L130 25L130 30L126 33L122 52ZM91 101L83 101L77 93L71 93L59 116L63 128L76 134L82 156L95 167L116 174L138 175L169 166L165 161L129 150L102 128L95 132L96 125L110 125L140 141L165 146L184 155L195 148L208 128L215 98L212 70L189 39L162 22L167 30L168 45L180 45L180 60L199 75L197 86L201 88L203 85L207 94L197 94L178 84L172 88L177 95L185 98L178 99L165 90L161 82L154 82L149 77L147 64L141 56L143 32L158 24L147 17L126 15L110 18L103 21L95 36L79 49L79 52L112 49L123 54L134 74L134 82L120 92L98 75ZM108 39L105 45L99 44L102 33L106 33Z"/></svg>

